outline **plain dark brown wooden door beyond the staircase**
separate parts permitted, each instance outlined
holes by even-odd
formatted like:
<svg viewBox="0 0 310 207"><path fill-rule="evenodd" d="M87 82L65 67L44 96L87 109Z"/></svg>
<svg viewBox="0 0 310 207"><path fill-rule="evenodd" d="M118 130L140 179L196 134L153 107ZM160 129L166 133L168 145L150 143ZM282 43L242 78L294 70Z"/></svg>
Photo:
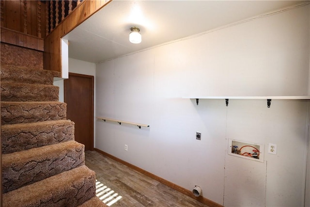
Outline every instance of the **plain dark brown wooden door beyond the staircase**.
<svg viewBox="0 0 310 207"><path fill-rule="evenodd" d="M93 150L93 76L69 73L63 81L67 119L75 123L75 140Z"/></svg>

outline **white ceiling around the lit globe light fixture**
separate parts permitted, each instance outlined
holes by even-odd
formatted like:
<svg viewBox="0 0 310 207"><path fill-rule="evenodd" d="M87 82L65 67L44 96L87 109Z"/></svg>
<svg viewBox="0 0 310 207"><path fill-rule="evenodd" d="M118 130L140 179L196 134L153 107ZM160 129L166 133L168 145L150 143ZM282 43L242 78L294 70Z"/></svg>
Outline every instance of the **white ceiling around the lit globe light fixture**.
<svg viewBox="0 0 310 207"><path fill-rule="evenodd" d="M296 0L113 0L64 39L69 57L100 63L257 16ZM138 26L140 44L129 42Z"/></svg>

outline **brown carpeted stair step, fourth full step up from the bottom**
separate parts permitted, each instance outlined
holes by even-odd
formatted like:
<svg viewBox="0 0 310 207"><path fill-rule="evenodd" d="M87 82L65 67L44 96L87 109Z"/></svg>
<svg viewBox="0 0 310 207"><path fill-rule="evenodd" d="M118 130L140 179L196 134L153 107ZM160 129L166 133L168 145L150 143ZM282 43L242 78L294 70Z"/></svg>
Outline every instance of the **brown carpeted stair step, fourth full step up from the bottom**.
<svg viewBox="0 0 310 207"><path fill-rule="evenodd" d="M1 125L66 119L67 104L58 101L1 101Z"/></svg>

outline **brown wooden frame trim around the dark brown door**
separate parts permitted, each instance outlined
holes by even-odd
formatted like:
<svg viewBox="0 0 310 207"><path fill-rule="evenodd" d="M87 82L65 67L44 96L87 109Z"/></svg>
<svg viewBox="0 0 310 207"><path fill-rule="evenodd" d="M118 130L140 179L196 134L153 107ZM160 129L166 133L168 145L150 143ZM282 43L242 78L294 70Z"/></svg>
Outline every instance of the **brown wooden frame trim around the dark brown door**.
<svg viewBox="0 0 310 207"><path fill-rule="evenodd" d="M91 137L91 151L93 151L94 150L94 148L93 148L93 139L94 139L94 137L93 137L93 134L94 134L94 132L93 132L93 130L94 130L94 101L93 101L93 96L94 96L94 77L93 76L90 76L90 75L84 75L84 74L78 74L78 73L69 73L69 78L70 78L70 76L75 76L75 77L83 77L83 78L89 78L89 79L91 79L91 120L90 120L90 123L91 123L91 131L90 131L90 137ZM65 81L64 81L65 82ZM64 90L64 92L65 92L65 83L63 83L63 90ZM63 101L65 102L65 100L66 100L66 93L63 93Z"/></svg>

